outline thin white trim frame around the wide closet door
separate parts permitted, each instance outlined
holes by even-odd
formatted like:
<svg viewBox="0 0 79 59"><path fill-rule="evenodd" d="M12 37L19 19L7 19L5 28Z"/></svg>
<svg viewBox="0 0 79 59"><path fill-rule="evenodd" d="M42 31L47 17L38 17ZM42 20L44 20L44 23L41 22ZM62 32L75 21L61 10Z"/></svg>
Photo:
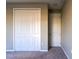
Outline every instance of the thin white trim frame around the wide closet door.
<svg viewBox="0 0 79 59"><path fill-rule="evenodd" d="M41 8L13 8L13 50L12 51L16 51L15 49L15 30L14 30L14 26L15 26L15 19L14 19L14 15L15 15L15 10L25 10L25 9L39 9L40 10L40 28L41 28ZM40 51L41 51L41 29L40 29Z"/></svg>

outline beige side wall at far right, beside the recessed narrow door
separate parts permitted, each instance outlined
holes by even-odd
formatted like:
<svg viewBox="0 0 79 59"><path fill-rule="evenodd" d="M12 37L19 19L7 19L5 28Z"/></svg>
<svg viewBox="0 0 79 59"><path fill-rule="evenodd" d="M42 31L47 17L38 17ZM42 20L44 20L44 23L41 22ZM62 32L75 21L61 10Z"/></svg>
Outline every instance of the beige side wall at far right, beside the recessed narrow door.
<svg viewBox="0 0 79 59"><path fill-rule="evenodd" d="M61 46L67 57L72 59L72 1L66 0L62 9L62 40Z"/></svg>

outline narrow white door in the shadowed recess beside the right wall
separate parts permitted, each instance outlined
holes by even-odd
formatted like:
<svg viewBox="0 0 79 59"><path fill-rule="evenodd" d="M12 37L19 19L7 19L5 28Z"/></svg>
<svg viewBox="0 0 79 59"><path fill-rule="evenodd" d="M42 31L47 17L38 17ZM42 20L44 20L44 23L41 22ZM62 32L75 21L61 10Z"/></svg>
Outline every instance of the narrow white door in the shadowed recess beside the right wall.
<svg viewBox="0 0 79 59"><path fill-rule="evenodd" d="M61 46L61 14L50 14L50 31L51 46Z"/></svg>

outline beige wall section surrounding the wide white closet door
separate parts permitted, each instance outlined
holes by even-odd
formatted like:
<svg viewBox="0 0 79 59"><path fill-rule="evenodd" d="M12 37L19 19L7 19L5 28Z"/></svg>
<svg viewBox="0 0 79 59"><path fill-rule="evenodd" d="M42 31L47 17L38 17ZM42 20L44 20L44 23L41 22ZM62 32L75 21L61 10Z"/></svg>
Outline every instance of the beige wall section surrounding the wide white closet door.
<svg viewBox="0 0 79 59"><path fill-rule="evenodd" d="M41 8L41 50L48 49L48 5L47 4L7 4L6 10L6 48L13 49L13 8Z"/></svg>

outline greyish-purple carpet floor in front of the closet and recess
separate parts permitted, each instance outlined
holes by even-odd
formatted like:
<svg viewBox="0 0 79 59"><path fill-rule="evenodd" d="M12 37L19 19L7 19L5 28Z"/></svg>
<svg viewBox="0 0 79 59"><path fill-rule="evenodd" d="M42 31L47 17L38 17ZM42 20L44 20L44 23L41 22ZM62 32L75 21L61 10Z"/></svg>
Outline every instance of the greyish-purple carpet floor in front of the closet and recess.
<svg viewBox="0 0 79 59"><path fill-rule="evenodd" d="M48 52L7 52L6 59L67 59L67 57L61 48L54 47Z"/></svg>

